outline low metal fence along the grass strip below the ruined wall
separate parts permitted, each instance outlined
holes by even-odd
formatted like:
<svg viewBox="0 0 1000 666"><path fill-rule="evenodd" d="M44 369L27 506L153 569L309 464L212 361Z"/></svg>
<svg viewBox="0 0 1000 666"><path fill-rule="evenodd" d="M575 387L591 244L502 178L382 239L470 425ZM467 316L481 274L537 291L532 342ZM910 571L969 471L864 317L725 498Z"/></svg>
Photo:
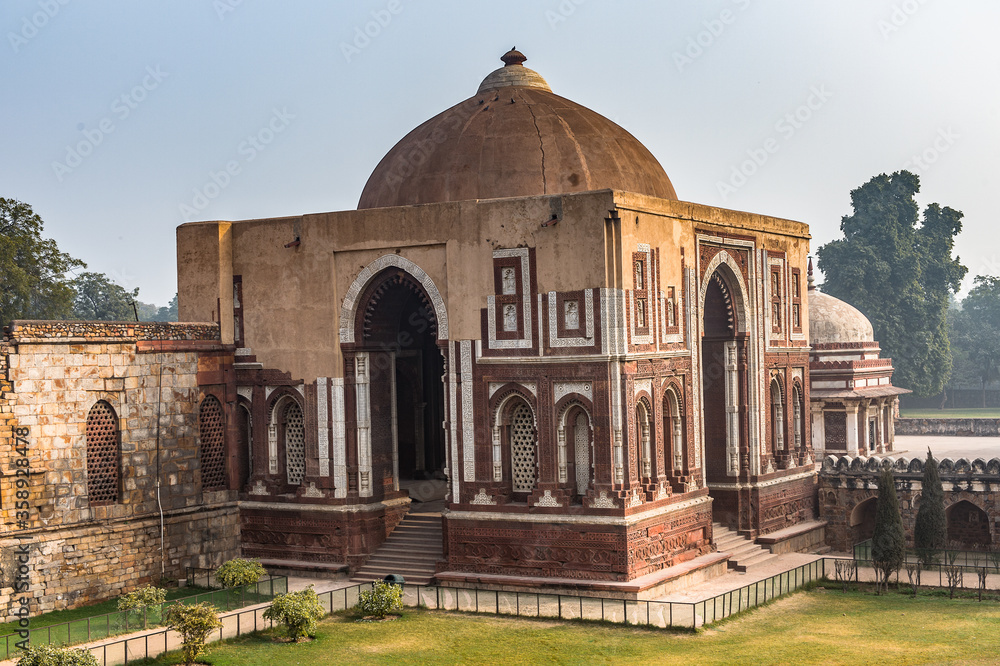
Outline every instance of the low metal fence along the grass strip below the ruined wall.
<svg viewBox="0 0 1000 666"><path fill-rule="evenodd" d="M29 629L28 639L34 644L49 645L89 643L110 636L141 631L147 627L157 627L162 623L167 608L174 604L190 605L207 601L220 611L229 611L234 608L243 608L270 601L276 595L284 594L287 591L287 577L269 576L253 585L200 592L189 597L166 601L142 611L116 611ZM11 659L17 656L16 644L22 640L24 637L20 633L0 636L0 646L4 651L3 658Z"/></svg>

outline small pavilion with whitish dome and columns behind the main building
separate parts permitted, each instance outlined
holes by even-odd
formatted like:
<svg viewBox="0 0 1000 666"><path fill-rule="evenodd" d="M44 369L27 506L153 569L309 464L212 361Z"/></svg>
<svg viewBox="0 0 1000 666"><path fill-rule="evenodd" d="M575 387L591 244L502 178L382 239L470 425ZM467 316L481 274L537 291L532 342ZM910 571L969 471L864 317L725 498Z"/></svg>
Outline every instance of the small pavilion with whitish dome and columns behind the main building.
<svg viewBox="0 0 1000 666"><path fill-rule="evenodd" d="M857 308L813 288L809 267L809 358L813 449L851 456L892 451L899 396L892 360L880 357L872 324Z"/></svg>

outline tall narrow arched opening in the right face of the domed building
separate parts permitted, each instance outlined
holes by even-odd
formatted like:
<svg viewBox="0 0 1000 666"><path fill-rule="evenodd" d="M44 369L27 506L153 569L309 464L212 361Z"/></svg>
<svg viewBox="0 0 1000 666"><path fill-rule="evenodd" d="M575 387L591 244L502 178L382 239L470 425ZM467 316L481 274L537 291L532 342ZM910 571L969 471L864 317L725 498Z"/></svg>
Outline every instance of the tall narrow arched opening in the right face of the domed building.
<svg viewBox="0 0 1000 666"><path fill-rule="evenodd" d="M723 275L723 271L727 275ZM737 304L728 266L720 266L705 289L702 325L702 389L704 406L705 480L713 498L713 518L739 528L739 506L731 487L740 473L740 346ZM733 281L731 281L733 280ZM713 487L713 484L718 484Z"/></svg>

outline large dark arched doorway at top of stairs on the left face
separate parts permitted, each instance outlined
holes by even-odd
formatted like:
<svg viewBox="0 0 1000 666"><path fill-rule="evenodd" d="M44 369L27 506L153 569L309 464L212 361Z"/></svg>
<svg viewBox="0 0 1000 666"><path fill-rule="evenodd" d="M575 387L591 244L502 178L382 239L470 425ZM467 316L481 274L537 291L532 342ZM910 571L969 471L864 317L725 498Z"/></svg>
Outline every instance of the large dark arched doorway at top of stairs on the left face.
<svg viewBox="0 0 1000 666"><path fill-rule="evenodd" d="M443 480L446 466L444 357L434 306L419 281L392 267L369 282L357 316L357 351L369 357L373 485L426 490L411 482Z"/></svg>

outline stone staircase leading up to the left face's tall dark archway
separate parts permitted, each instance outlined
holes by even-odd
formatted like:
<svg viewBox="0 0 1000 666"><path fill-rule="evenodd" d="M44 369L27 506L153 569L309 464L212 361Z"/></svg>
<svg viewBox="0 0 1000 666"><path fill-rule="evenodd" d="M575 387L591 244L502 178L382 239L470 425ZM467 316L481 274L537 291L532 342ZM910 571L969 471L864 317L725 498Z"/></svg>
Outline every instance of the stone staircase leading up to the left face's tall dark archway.
<svg viewBox="0 0 1000 666"><path fill-rule="evenodd" d="M440 509L433 511L434 508L437 507L425 508L414 503L413 510L406 514L351 580L370 583L389 574L399 574L407 583L429 584L434 578L435 565L444 559L441 513Z"/></svg>

